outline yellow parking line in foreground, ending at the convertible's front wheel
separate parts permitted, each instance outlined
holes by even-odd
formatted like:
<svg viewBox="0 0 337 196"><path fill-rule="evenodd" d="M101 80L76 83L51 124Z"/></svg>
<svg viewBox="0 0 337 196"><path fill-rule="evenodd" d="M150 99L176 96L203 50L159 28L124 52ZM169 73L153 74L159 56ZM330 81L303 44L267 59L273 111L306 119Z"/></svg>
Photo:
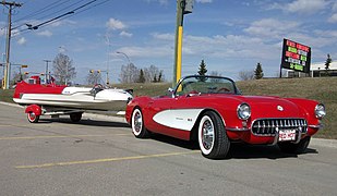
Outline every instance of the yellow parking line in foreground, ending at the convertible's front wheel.
<svg viewBox="0 0 337 196"><path fill-rule="evenodd" d="M70 162L51 162L51 163L34 164L34 166L17 166L17 167L15 167L15 169L36 169L36 168L64 167L64 166L73 166L73 164L89 164L89 163L100 163L100 162L112 162L112 161L123 161L123 160L135 160L135 159L148 159L148 158L158 158L158 157L190 155L190 154L196 154L196 152L200 152L200 150L169 152L169 154L155 154L155 155L144 155L144 156L134 156L134 157L119 157L119 158L109 158L109 159L70 161Z"/></svg>

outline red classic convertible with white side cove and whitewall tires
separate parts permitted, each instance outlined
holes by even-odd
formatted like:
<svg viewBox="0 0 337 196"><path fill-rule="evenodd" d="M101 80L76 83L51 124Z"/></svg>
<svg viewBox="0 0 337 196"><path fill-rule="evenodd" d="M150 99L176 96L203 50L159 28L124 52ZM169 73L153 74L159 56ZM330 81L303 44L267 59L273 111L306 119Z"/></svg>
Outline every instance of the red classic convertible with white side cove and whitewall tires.
<svg viewBox="0 0 337 196"><path fill-rule="evenodd" d="M232 142L303 152L322 127L324 105L301 98L242 96L232 79L186 76L169 96L136 97L125 119L135 137L159 133L197 140L204 157L225 158Z"/></svg>

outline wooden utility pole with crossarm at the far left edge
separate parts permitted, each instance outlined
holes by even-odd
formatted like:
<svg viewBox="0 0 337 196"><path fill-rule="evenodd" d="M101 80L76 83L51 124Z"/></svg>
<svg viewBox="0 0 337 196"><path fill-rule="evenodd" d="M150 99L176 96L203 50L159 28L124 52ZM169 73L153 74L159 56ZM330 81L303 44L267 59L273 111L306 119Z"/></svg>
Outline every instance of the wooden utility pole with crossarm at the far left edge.
<svg viewBox="0 0 337 196"><path fill-rule="evenodd" d="M12 33L12 10L13 7L21 7L22 3L15 3L15 2L5 2L5 0L2 0L0 2L4 7L8 5L9 8L9 16L8 16L8 33L7 33L7 45L5 45L5 71L3 73L3 89L9 89L10 87L10 76L11 76L11 64L10 64L10 48L11 48L11 33Z"/></svg>

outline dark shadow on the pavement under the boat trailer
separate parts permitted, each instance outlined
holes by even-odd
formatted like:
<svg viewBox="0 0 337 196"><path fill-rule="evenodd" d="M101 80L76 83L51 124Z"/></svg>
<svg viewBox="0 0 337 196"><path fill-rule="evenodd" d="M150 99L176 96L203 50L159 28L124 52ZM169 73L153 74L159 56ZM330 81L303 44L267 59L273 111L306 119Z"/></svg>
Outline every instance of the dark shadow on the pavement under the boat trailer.
<svg viewBox="0 0 337 196"><path fill-rule="evenodd" d="M130 125L124 122L87 120L87 119L81 120L79 122L72 122L69 118L40 119L38 123L64 123L64 124L86 125L86 126L130 127Z"/></svg>

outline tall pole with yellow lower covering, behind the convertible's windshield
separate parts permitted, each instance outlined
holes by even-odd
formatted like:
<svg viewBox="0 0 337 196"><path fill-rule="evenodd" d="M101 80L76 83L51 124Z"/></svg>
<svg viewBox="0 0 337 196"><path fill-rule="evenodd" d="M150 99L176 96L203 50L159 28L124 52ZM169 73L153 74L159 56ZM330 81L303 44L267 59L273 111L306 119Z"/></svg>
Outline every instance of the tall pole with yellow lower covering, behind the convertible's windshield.
<svg viewBox="0 0 337 196"><path fill-rule="evenodd" d="M183 15L192 13L194 0L177 0L177 28L172 87L181 77Z"/></svg>

